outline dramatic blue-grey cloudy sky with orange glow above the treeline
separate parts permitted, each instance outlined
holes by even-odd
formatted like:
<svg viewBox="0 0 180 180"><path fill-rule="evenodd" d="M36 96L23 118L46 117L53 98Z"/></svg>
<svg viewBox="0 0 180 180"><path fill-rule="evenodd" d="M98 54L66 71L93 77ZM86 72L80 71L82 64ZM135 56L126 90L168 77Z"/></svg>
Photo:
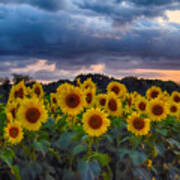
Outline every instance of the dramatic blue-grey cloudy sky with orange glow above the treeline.
<svg viewBox="0 0 180 180"><path fill-rule="evenodd" d="M180 82L180 0L0 0L0 77Z"/></svg>

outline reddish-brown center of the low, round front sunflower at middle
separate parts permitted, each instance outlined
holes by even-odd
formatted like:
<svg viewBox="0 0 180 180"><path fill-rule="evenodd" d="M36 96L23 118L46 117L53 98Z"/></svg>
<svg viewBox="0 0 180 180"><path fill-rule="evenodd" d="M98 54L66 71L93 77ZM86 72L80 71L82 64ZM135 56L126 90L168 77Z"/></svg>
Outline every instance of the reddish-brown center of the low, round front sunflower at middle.
<svg viewBox="0 0 180 180"><path fill-rule="evenodd" d="M92 115L89 118L88 124L92 129L99 129L102 126L103 120L99 115Z"/></svg>

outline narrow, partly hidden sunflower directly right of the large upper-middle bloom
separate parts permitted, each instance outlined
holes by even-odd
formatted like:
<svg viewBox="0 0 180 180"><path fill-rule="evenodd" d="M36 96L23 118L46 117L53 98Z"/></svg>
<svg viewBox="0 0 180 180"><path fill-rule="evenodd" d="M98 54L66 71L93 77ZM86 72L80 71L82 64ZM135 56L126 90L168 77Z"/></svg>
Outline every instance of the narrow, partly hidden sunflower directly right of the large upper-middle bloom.
<svg viewBox="0 0 180 180"><path fill-rule="evenodd" d="M86 89L83 91L85 96L86 107L92 107L95 103L96 91L94 89Z"/></svg>

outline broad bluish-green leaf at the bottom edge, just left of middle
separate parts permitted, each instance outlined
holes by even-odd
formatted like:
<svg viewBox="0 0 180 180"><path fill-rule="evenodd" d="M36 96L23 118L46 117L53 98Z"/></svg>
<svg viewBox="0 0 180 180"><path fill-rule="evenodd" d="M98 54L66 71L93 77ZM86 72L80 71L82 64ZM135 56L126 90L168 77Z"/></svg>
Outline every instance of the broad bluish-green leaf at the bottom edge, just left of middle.
<svg viewBox="0 0 180 180"><path fill-rule="evenodd" d="M101 168L96 160L91 162L81 160L78 163L78 171L81 179L95 180L96 177L100 176Z"/></svg>

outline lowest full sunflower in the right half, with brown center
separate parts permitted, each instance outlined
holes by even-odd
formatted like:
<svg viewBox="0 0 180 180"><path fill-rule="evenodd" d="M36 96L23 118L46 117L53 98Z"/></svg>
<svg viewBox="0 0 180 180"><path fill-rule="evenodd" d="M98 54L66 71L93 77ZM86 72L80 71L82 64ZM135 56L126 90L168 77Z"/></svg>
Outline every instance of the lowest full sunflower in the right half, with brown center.
<svg viewBox="0 0 180 180"><path fill-rule="evenodd" d="M136 136L146 135L150 130L150 120L141 118L140 114L136 112L128 117L127 123L128 131L131 131Z"/></svg>

